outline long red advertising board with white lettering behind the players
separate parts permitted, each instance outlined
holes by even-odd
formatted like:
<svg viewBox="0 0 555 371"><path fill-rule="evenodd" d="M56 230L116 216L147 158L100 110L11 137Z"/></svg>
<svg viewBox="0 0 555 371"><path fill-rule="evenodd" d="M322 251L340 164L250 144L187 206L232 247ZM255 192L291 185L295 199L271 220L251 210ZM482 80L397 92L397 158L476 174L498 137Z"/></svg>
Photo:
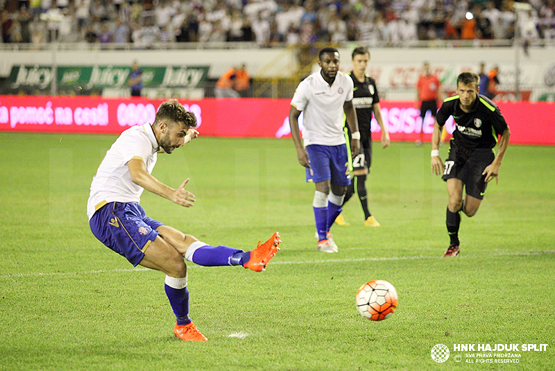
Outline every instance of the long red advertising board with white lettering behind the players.
<svg viewBox="0 0 555 371"><path fill-rule="evenodd" d="M0 96L0 131L119 134L126 128L153 122L163 99L88 96ZM210 137L291 137L289 99L205 98L179 100L194 112L200 135ZM393 141L415 141L420 130L431 138L434 119L420 125L411 101L382 101L382 117ZM497 102L511 128L512 144L555 145L555 103ZM453 121L447 121L452 132ZM373 138L379 126L373 120Z"/></svg>

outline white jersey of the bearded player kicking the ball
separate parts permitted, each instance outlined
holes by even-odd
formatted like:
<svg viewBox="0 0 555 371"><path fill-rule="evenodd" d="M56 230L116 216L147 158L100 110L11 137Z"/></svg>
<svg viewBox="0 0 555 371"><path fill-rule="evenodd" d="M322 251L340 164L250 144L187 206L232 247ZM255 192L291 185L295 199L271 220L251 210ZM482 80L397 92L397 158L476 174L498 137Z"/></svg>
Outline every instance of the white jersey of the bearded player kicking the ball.
<svg viewBox="0 0 555 371"><path fill-rule="evenodd" d="M150 123L132 126L122 132L92 179L87 202L89 219L106 202L139 202L144 188L131 181L127 163L131 159L142 159L150 174L156 164L157 151L158 142Z"/></svg>

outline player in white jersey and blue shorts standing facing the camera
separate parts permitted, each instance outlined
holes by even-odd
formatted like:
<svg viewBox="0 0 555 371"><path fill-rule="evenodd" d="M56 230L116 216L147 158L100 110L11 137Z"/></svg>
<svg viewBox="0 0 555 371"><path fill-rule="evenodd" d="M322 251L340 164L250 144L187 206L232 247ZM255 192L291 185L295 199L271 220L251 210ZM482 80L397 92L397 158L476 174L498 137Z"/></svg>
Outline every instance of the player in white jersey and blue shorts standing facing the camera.
<svg viewBox="0 0 555 371"><path fill-rule="evenodd" d="M324 48L318 57L320 71L309 75L298 85L289 110L291 137L297 150L298 162L307 168L307 182L316 184L312 207L316 221L316 249L337 252L330 227L341 214L341 205L350 184L349 161L343 112L352 132L351 150L360 150L357 114L352 105L353 83L339 71L339 52ZM300 139L298 118L303 112L305 130ZM304 142L304 143L303 143Z"/></svg>

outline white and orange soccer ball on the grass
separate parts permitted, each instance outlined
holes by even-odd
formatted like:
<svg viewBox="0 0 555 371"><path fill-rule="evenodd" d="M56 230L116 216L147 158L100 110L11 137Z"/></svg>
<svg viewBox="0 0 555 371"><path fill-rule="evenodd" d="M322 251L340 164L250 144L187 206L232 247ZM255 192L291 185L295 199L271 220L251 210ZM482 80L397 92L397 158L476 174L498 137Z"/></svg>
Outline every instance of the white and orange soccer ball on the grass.
<svg viewBox="0 0 555 371"><path fill-rule="evenodd" d="M357 309L368 320L389 318L397 308L398 300L395 287L383 279L373 279L357 291Z"/></svg>

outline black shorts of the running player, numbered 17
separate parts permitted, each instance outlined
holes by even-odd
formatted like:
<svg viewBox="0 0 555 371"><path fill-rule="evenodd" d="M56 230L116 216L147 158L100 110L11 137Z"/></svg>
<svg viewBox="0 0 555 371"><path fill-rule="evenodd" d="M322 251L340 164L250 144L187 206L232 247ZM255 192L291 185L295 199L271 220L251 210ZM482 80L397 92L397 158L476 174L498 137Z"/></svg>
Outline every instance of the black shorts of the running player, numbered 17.
<svg viewBox="0 0 555 371"><path fill-rule="evenodd" d="M452 143L441 179L446 182L451 178L460 179L468 196L483 200L488 183L485 181L486 176L482 173L494 158L495 155L490 148L477 148L470 155L466 153L457 155L456 147Z"/></svg>

